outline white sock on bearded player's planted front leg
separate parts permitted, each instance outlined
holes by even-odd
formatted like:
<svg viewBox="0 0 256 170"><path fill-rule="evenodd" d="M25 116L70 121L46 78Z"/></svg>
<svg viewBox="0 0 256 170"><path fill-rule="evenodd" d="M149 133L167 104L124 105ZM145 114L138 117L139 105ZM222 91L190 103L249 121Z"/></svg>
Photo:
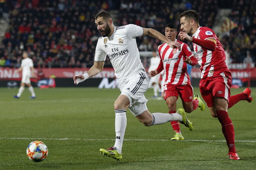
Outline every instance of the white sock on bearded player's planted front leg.
<svg viewBox="0 0 256 170"><path fill-rule="evenodd" d="M117 109L115 110L116 118L115 118L115 130L116 130L116 142L114 147L118 153L122 153L122 146L124 140L124 132L127 124L126 119L126 110Z"/></svg>

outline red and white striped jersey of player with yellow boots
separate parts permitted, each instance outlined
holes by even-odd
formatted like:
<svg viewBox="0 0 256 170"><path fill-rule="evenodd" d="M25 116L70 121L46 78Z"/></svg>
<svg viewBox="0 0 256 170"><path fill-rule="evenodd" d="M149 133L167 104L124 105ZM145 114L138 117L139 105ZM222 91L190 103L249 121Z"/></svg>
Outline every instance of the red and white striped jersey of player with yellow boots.
<svg viewBox="0 0 256 170"><path fill-rule="evenodd" d="M161 59L159 66L163 66L165 84L191 85L187 73L187 64L183 60L185 60L185 57L191 58L194 55L187 44L181 41L178 42L181 44L181 51L177 48L171 48L166 43L158 46Z"/></svg>

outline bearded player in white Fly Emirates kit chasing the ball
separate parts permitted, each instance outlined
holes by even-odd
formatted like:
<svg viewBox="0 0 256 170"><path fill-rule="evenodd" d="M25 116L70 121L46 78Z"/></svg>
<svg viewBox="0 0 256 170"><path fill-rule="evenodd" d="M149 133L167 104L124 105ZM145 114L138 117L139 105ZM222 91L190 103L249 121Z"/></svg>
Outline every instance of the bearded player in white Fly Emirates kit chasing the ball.
<svg viewBox="0 0 256 170"><path fill-rule="evenodd" d="M158 31L150 28L142 28L132 24L115 27L111 15L106 11L102 11L95 16L95 24L102 37L99 38L96 46L94 65L86 74L76 75L73 80L77 85L97 75L103 70L106 56L108 55L110 58L121 91L121 94L114 103L116 141L113 147L100 149L100 152L115 160L122 159L127 108L145 126L177 120L190 130L193 130L193 125L187 119L184 109L179 109L177 113L173 114L151 114L148 111L146 106L148 100L144 96L149 85L148 76L141 63L135 38L149 35L166 42L172 48L178 49L180 49L180 43L172 42Z"/></svg>

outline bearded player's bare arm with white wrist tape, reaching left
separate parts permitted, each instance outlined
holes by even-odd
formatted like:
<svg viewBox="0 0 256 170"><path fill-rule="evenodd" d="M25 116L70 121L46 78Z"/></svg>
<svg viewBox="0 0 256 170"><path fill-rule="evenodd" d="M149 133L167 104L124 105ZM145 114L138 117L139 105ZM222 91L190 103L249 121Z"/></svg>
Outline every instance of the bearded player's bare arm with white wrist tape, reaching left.
<svg viewBox="0 0 256 170"><path fill-rule="evenodd" d="M99 74L103 70L104 63L105 61L94 62L94 65L90 68L90 70L87 73L85 73L84 75L75 75L73 78L74 84L77 85L78 83L81 83L86 79L89 79Z"/></svg>

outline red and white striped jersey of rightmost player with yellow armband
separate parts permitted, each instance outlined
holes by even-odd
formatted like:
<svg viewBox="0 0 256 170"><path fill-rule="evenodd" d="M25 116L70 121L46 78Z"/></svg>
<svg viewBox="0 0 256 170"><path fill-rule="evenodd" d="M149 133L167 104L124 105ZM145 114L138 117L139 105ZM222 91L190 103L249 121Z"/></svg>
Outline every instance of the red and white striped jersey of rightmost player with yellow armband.
<svg viewBox="0 0 256 170"><path fill-rule="evenodd" d="M211 41L215 41L217 45L214 51L210 51L193 43L196 59L198 64L201 66L201 79L211 77L228 70L225 62L225 51L212 29L208 27L199 27L192 37L200 40L211 39Z"/></svg>

